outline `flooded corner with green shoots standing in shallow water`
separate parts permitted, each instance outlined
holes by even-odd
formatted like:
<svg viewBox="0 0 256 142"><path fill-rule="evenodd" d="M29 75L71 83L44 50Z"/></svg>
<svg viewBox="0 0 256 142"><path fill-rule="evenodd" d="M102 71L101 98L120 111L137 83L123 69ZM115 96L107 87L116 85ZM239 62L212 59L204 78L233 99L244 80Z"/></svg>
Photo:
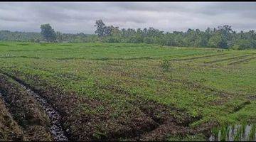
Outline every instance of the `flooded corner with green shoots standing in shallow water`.
<svg viewBox="0 0 256 142"><path fill-rule="evenodd" d="M256 141L255 125L237 124L235 126L227 126L218 130L218 136L212 134L209 141Z"/></svg>

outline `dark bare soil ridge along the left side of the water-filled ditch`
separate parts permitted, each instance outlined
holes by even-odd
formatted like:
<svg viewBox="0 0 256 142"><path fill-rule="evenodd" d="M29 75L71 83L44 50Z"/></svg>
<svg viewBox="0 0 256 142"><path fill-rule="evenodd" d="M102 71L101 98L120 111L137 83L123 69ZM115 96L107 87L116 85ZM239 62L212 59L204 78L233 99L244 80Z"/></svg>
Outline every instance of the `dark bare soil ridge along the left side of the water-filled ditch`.
<svg viewBox="0 0 256 142"><path fill-rule="evenodd" d="M14 80L1 74L0 90L6 107L28 141L53 140L48 129L49 121L46 114L26 90Z"/></svg>

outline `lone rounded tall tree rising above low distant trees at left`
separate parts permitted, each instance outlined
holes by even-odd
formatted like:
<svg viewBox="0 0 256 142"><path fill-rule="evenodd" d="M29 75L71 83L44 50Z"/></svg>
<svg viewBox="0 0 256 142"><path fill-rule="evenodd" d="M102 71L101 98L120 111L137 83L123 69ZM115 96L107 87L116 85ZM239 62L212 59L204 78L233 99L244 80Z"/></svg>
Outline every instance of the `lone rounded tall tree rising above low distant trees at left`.
<svg viewBox="0 0 256 142"><path fill-rule="evenodd" d="M41 25L41 34L48 42L53 42L56 40L56 34L49 23Z"/></svg>

